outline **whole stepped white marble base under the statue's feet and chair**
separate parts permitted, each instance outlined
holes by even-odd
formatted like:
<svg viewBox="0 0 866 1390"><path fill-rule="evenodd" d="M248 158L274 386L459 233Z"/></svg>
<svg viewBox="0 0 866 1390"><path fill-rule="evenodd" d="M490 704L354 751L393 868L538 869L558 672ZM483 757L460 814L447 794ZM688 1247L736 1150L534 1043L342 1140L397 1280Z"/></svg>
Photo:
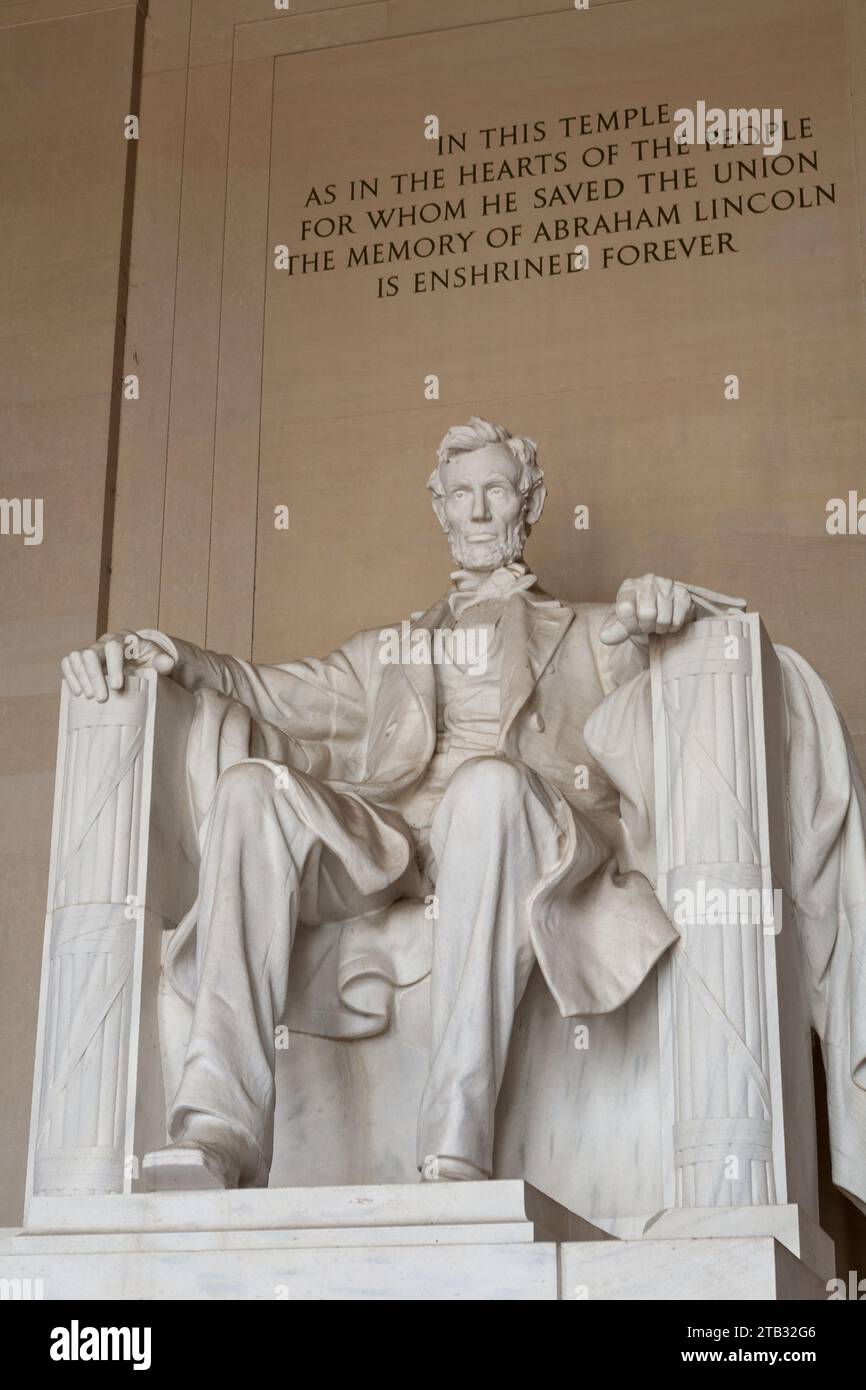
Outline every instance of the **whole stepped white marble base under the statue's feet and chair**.
<svg viewBox="0 0 866 1390"><path fill-rule="evenodd" d="M518 1180L35 1198L4 1298L826 1298L771 1236L616 1240Z"/></svg>

